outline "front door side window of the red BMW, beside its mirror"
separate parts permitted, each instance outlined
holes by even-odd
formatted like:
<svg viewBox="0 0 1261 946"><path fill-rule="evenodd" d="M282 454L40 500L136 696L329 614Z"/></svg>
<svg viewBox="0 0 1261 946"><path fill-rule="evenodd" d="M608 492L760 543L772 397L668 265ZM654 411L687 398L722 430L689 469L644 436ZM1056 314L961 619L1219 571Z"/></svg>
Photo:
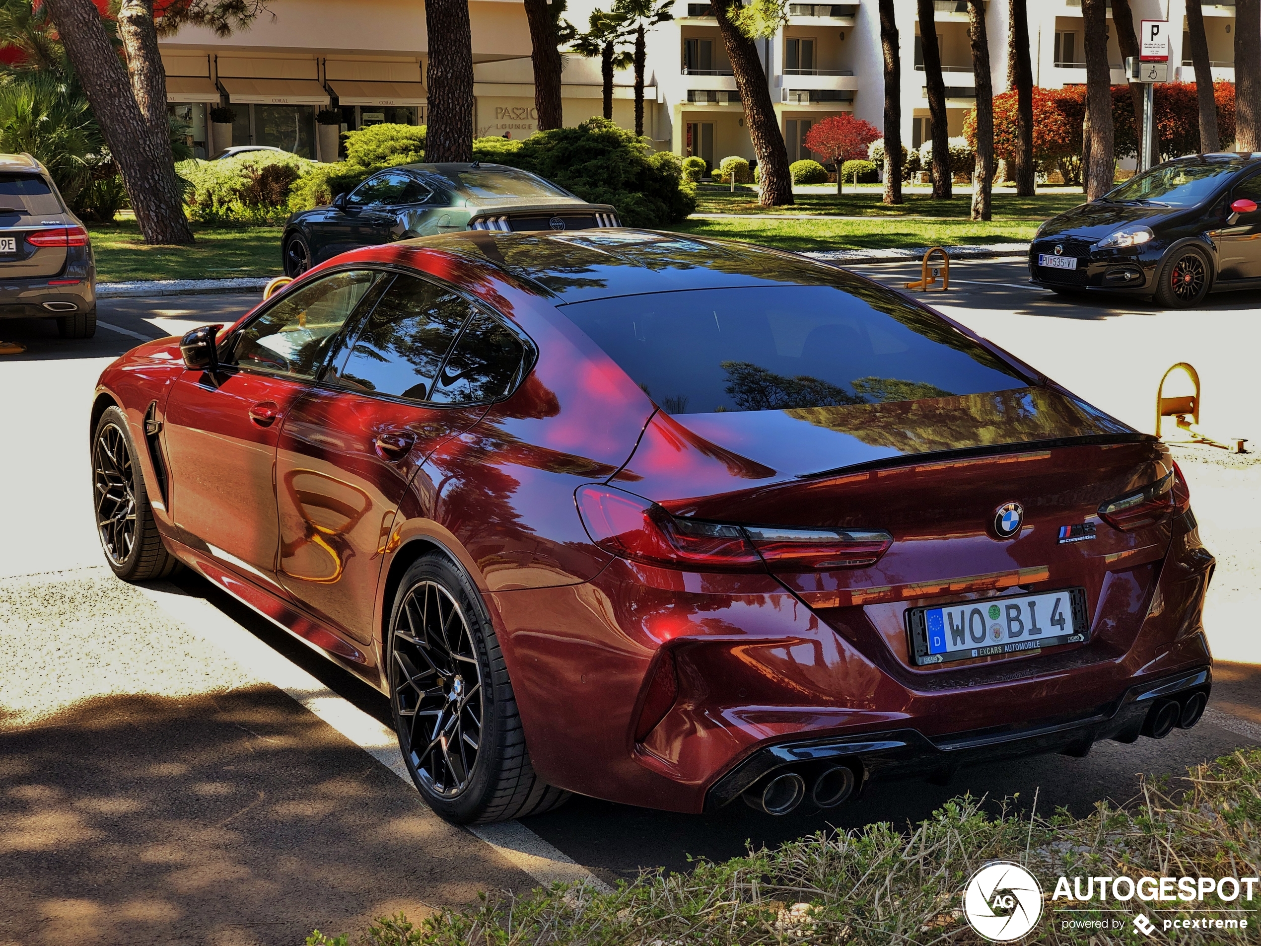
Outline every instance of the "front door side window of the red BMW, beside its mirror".
<svg viewBox="0 0 1261 946"><path fill-rule="evenodd" d="M382 274L334 272L285 293L237 337L237 366L313 378L342 325Z"/></svg>

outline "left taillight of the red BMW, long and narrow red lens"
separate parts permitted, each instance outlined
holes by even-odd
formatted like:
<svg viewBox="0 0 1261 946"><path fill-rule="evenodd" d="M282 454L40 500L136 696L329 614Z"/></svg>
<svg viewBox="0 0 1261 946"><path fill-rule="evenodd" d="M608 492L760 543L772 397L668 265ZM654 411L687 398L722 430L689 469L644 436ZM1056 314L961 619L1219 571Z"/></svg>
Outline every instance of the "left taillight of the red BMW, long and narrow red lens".
<svg viewBox="0 0 1261 946"><path fill-rule="evenodd" d="M878 530L779 528L672 516L633 493L579 487L578 511L613 555L690 571L815 571L875 563L893 545Z"/></svg>

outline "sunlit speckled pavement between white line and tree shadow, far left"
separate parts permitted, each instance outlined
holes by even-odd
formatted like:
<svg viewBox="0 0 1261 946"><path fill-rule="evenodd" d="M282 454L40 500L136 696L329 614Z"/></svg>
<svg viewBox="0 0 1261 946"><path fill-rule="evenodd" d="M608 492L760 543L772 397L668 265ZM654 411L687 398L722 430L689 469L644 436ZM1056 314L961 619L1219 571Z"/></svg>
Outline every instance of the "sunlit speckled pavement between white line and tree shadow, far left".
<svg viewBox="0 0 1261 946"><path fill-rule="evenodd" d="M0 729L97 696L192 696L259 682L106 568L0 580Z"/></svg>

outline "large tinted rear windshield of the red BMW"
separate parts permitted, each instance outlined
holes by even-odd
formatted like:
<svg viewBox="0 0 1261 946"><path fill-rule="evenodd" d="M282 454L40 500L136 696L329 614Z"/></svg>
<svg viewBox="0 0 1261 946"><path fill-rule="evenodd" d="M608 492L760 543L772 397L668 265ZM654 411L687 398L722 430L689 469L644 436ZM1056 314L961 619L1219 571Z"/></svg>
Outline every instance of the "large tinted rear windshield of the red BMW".
<svg viewBox="0 0 1261 946"><path fill-rule="evenodd" d="M918 401L1028 385L941 319L866 284L653 293L561 310L671 414Z"/></svg>

